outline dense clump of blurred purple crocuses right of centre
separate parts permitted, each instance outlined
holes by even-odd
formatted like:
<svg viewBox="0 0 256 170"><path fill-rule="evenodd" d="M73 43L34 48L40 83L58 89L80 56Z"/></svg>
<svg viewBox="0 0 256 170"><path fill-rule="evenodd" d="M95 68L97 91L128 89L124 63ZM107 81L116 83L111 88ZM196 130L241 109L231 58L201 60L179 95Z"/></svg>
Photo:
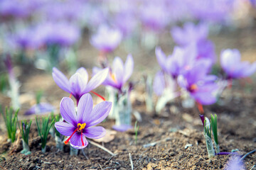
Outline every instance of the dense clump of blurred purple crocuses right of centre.
<svg viewBox="0 0 256 170"><path fill-rule="evenodd" d="M215 103L215 91L218 90L218 86L215 84L217 77L208 74L215 62L213 46L210 45L208 48L207 43L210 42L207 39L208 26L203 23L199 23L198 26L185 23L183 29L174 28L171 33L180 45L174 47L172 55L166 57L161 48L156 47L156 59L161 71L154 79L154 91L158 96L165 96L166 91L169 91L168 96L172 96L164 97L166 100L160 98L159 101L165 104L176 96L183 96L183 92L186 92L185 94L189 94L198 103L204 105ZM202 52L201 48L204 47L206 49ZM177 85L183 89L181 94L176 91Z"/></svg>

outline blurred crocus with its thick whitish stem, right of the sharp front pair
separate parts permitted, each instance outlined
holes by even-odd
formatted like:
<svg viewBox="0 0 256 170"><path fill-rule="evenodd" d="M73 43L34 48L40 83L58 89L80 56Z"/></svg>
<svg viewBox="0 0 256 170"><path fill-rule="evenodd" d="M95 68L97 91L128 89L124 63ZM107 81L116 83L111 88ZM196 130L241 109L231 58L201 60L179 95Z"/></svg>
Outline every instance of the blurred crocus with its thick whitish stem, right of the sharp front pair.
<svg viewBox="0 0 256 170"><path fill-rule="evenodd" d="M113 102L110 117L116 120L115 130L125 131L132 128L131 115L132 105L129 100L131 87L124 88L124 84L131 77L134 68L134 60L132 55L127 56L126 62L122 62L121 58L115 57L112 67L109 66L110 72L107 79L103 81L103 85L108 86L109 99ZM93 73L102 72L98 67L93 68Z"/></svg>

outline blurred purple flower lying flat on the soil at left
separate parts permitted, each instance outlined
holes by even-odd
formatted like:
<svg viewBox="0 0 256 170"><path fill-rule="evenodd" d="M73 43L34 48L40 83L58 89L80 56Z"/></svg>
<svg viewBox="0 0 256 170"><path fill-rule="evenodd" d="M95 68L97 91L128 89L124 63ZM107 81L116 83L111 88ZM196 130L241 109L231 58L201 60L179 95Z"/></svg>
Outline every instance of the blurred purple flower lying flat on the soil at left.
<svg viewBox="0 0 256 170"><path fill-rule="evenodd" d="M54 111L55 108L49 103L38 103L32 106L28 111L24 113L24 115L33 115L33 114L41 114L48 113Z"/></svg>

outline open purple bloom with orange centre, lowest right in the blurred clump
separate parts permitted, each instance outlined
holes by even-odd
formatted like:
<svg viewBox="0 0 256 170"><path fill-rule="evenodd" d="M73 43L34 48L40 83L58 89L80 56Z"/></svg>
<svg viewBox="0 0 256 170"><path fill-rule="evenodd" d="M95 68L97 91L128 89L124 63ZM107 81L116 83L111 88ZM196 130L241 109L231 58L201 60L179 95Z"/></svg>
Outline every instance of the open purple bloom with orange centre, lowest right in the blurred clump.
<svg viewBox="0 0 256 170"><path fill-rule="evenodd" d="M215 91L218 85L215 84L217 77L207 75L208 68L204 60L198 61L178 76L178 85L186 89L198 103L210 105L216 102Z"/></svg>

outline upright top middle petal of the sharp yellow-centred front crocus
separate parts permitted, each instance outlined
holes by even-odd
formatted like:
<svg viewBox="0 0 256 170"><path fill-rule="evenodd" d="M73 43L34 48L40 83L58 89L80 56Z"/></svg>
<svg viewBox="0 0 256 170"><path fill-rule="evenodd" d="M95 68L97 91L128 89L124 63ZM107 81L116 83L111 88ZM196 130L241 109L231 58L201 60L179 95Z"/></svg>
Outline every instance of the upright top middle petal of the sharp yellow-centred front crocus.
<svg viewBox="0 0 256 170"><path fill-rule="evenodd" d="M90 94L84 94L78 103L78 123L85 123L89 119L88 113L92 113L93 102Z"/></svg>

